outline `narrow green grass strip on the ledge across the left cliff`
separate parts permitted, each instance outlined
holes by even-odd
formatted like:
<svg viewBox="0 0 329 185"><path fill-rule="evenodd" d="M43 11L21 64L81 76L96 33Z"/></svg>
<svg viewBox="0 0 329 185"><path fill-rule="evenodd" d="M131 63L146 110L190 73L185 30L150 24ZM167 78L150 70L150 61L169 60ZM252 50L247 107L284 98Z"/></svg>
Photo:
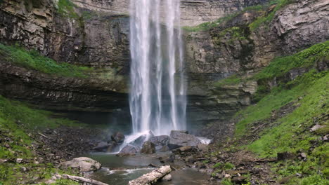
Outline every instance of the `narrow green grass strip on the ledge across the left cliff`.
<svg viewBox="0 0 329 185"><path fill-rule="evenodd" d="M36 50L25 50L20 46L5 46L1 43L0 57L4 57L6 61L19 64L22 67L58 76L86 78L88 77L87 73L92 70L89 67L79 67L65 62L58 63L49 57L40 55Z"/></svg>

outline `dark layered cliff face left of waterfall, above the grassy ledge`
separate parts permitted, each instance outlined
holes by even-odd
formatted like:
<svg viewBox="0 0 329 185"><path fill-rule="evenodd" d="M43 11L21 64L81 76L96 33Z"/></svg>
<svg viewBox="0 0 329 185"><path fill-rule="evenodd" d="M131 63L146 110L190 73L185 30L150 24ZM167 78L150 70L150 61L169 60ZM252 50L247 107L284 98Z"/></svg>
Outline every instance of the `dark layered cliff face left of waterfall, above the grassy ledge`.
<svg viewBox="0 0 329 185"><path fill-rule="evenodd" d="M129 71L129 18L78 10L76 18L57 13L53 1L4 1L0 41L20 42L60 62ZM85 14L88 14L84 16Z"/></svg>

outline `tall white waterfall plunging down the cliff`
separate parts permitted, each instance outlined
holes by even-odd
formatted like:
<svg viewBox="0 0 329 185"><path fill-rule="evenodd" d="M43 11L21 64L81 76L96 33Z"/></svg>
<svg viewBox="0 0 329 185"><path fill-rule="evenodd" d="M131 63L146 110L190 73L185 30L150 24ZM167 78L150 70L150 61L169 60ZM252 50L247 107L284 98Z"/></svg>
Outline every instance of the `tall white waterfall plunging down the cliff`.
<svg viewBox="0 0 329 185"><path fill-rule="evenodd" d="M131 0L133 134L186 129L186 80L179 0Z"/></svg>

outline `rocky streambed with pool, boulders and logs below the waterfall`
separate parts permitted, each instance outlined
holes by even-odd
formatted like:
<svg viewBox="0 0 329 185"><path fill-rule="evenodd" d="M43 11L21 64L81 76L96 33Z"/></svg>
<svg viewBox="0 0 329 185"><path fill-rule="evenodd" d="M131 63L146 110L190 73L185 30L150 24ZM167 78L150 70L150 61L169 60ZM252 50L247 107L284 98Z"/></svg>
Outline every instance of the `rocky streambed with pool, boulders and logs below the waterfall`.
<svg viewBox="0 0 329 185"><path fill-rule="evenodd" d="M59 167L77 169L87 179L105 184L141 184L147 178L152 184L163 185L210 183L209 175L193 165L204 159L201 153L207 152L207 144L186 131L172 130L169 136L148 132L134 137L116 132L110 138L99 142L93 152L60 163Z"/></svg>

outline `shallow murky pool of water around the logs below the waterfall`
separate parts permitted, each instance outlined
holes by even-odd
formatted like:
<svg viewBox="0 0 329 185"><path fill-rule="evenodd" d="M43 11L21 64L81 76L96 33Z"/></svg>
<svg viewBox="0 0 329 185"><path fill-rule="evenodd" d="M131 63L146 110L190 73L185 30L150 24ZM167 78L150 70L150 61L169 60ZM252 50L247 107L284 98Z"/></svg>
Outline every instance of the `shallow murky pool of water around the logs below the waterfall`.
<svg viewBox="0 0 329 185"><path fill-rule="evenodd" d="M91 179L103 181L107 184L127 185L132 179L141 177L152 170L148 167L150 163L154 165L162 165L160 156L167 156L167 153L156 153L153 155L136 155L129 157L117 157L115 154L109 153L90 153L86 157L97 160L102 164L102 169L89 174ZM160 185L202 185L209 184L207 174L202 174L194 169L187 168L176 170L171 173L172 181L162 181Z"/></svg>

